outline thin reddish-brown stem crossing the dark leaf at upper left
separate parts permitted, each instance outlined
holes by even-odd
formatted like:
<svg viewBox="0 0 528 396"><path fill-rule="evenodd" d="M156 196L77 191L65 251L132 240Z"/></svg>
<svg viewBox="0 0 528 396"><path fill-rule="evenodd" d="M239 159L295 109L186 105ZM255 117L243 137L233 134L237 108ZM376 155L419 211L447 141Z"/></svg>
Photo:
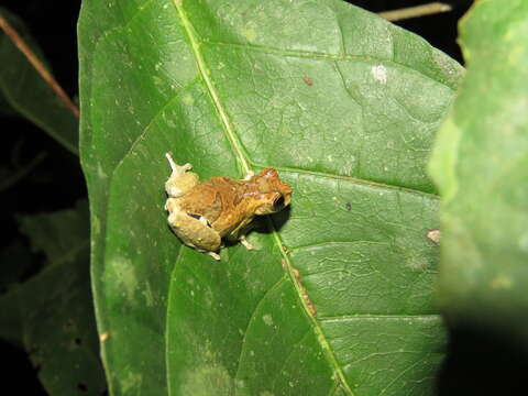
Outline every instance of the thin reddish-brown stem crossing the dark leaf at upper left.
<svg viewBox="0 0 528 396"><path fill-rule="evenodd" d="M3 30L6 35L11 38L13 44L20 50L28 61L33 65L41 77L53 89L58 99L74 113L75 118L79 118L78 107L69 99L63 88L58 85L55 78L52 76L46 66L36 57L35 53L31 51L30 46L24 42L20 34L11 26L6 18L0 14L0 29Z"/></svg>

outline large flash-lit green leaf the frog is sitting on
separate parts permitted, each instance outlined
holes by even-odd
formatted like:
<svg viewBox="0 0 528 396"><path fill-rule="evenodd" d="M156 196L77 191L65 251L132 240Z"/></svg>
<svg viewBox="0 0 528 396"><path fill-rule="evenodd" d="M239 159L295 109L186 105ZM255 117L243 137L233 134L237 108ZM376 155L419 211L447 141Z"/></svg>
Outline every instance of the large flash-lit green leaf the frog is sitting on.
<svg viewBox="0 0 528 396"><path fill-rule="evenodd" d="M81 160L113 395L427 395L438 200L425 165L462 68L337 0L86 0ZM164 154L274 166L290 210L222 261L166 224Z"/></svg>

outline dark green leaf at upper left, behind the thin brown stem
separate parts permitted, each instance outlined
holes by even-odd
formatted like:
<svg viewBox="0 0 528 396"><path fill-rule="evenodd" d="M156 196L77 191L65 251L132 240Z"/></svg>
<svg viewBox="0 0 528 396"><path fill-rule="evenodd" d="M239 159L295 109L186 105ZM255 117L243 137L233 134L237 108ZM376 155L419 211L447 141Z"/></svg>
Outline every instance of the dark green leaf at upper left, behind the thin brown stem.
<svg viewBox="0 0 528 396"><path fill-rule="evenodd" d="M0 8L0 18L6 19L35 56L45 63L22 20L4 8ZM0 64L0 114L14 112L23 116L77 155L78 120L1 29ZM48 65L45 66L50 70Z"/></svg>

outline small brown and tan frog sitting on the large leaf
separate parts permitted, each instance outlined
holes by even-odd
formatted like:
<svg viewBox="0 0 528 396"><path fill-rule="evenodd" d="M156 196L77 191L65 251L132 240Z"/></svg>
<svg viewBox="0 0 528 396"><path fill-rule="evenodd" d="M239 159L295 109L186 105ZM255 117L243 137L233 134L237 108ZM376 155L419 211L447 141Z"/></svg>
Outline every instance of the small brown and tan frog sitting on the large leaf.
<svg viewBox="0 0 528 396"><path fill-rule="evenodd" d="M200 182L190 172L191 164L176 164L170 153L165 157L172 169L165 183L168 226L183 243L215 260L220 260L226 240L253 249L245 238L253 219L276 213L292 202L290 185L272 167L256 175L250 172L243 179L217 176Z"/></svg>

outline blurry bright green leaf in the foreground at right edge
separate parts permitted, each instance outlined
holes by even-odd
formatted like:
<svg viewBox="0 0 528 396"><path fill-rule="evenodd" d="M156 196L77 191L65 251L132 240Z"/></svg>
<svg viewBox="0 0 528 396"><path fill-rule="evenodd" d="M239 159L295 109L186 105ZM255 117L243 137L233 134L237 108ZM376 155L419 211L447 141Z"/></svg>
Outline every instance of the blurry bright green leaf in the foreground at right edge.
<svg viewBox="0 0 528 396"><path fill-rule="evenodd" d="M528 3L480 1L460 25L468 76L436 143L440 302L457 321L528 323Z"/></svg>

